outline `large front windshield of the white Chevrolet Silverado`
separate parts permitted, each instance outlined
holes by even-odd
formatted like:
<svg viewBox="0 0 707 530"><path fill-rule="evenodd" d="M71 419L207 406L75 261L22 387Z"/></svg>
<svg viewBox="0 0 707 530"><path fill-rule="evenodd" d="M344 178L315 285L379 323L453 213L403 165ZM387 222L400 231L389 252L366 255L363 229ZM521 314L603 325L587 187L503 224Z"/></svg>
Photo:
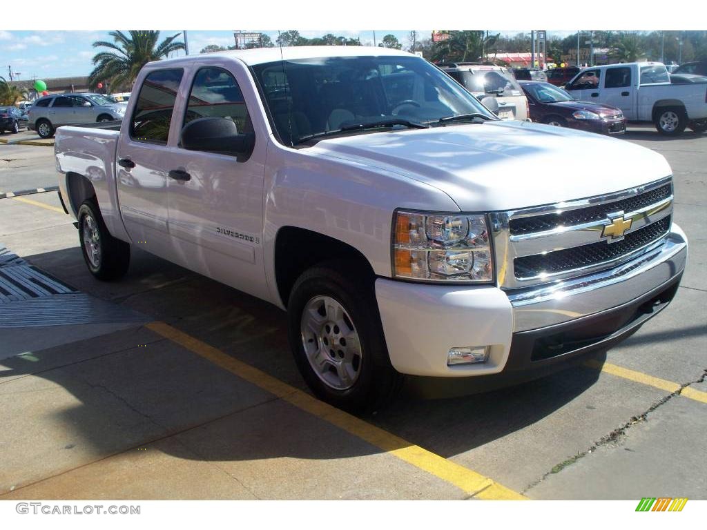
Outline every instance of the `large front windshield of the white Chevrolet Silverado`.
<svg viewBox="0 0 707 530"><path fill-rule="evenodd" d="M252 67L274 126L293 146L327 131L387 120L491 117L451 78L419 57L322 57Z"/></svg>

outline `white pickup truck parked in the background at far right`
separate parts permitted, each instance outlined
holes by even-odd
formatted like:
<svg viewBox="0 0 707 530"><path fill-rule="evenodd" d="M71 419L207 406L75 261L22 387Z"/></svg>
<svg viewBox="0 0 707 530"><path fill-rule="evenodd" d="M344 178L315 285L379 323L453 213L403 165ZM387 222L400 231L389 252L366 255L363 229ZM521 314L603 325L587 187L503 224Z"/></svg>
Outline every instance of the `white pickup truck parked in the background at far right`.
<svg viewBox="0 0 707 530"><path fill-rule="evenodd" d="M707 83L674 85L665 64L607 64L580 71L566 86L581 101L619 107L629 122L652 122L660 134L707 131Z"/></svg>

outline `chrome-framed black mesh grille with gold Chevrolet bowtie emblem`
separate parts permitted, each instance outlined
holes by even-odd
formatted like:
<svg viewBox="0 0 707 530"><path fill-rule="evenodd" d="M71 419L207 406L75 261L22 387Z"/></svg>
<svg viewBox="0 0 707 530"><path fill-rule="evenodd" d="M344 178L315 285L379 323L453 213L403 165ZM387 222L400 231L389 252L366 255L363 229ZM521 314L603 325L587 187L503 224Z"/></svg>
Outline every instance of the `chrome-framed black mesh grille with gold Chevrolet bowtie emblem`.
<svg viewBox="0 0 707 530"><path fill-rule="evenodd" d="M603 196L489 214L501 288L561 281L624 263L670 232L672 177Z"/></svg>

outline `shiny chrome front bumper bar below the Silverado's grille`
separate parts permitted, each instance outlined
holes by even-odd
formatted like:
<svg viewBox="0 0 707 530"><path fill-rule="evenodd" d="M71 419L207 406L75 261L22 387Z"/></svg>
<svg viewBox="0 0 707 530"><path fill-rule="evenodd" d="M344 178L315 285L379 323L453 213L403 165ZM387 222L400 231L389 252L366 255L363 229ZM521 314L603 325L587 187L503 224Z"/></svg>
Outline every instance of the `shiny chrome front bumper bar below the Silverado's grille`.
<svg viewBox="0 0 707 530"><path fill-rule="evenodd" d="M513 332L554 326L631 302L679 276L687 259L687 237L678 225L641 256L579 278L509 291Z"/></svg>

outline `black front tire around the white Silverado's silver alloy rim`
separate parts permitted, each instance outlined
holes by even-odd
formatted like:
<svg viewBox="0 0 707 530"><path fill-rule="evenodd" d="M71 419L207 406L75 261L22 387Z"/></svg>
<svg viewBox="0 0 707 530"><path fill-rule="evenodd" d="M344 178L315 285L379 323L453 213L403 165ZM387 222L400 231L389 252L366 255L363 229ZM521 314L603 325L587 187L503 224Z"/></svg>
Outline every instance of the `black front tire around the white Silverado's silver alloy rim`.
<svg viewBox="0 0 707 530"><path fill-rule="evenodd" d="M375 411L385 406L394 399L402 386L403 379L390 364L385 346L373 288L375 278L363 276L360 270L361 267L356 268L349 261L329 261L314 266L305 271L295 282L288 303L290 347L302 377L319 399L351 412ZM348 315L352 324L351 329L358 334L360 355L356 368L357 375L351 387L346 389L337 389L325 382L322 376L315 372L305 353L305 341L311 343L315 336L313 332L310 338L306 338L303 334L303 313L310 302L321 297L328 297L338 302ZM320 316L326 319L321 313ZM320 332L325 334L327 324L323 323L321 326ZM332 333L334 331L339 333L338 330L332 329ZM343 336L343 330L341 334ZM323 338L320 340L324 341ZM317 348L316 345L312 347ZM356 349L354 347L354 351ZM341 362L344 362L344 354L341 351L338 353L341 354ZM332 351L332 355L336 354ZM332 363L329 368L335 373L334 361L329 358L326 360Z"/></svg>

